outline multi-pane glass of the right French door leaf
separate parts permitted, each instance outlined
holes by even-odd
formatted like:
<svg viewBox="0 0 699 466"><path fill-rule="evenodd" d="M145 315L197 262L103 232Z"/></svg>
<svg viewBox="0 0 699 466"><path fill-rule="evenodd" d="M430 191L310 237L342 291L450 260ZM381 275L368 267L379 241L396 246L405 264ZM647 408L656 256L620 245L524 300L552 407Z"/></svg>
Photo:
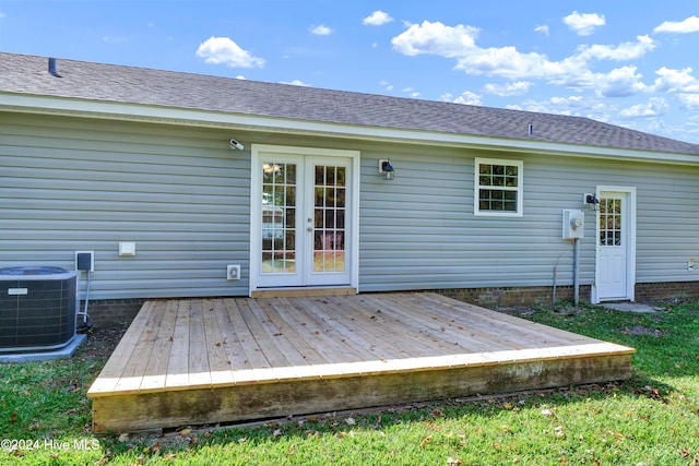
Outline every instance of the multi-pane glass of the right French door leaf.
<svg viewBox="0 0 699 466"><path fill-rule="evenodd" d="M345 271L345 167L316 166L313 272Z"/></svg>

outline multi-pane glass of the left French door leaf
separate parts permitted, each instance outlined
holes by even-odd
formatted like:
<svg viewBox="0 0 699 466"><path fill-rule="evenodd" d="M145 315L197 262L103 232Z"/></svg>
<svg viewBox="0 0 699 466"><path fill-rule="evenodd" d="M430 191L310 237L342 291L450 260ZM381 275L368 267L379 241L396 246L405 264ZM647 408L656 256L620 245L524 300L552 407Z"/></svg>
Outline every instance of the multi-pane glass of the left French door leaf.
<svg viewBox="0 0 699 466"><path fill-rule="evenodd" d="M296 272L296 165L262 164L262 274Z"/></svg>

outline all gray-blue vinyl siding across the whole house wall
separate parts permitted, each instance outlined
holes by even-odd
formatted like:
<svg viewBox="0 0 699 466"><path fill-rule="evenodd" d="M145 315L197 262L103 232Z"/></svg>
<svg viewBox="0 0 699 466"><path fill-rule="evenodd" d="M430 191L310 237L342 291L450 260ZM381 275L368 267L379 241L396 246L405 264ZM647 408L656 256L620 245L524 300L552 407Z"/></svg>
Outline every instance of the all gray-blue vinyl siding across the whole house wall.
<svg viewBox="0 0 699 466"><path fill-rule="evenodd" d="M228 148L234 134L245 151ZM570 285L561 211L597 186L637 188L638 283L699 277L686 266L699 259L699 168L8 113L0 266L73 268L74 251L94 250L94 299L247 296L251 143L360 151L360 291L550 286L555 267ZM475 157L523 160L522 217L473 215ZM590 285L595 213L584 212ZM137 255L120 258L119 241ZM226 264L242 279L227 282Z"/></svg>

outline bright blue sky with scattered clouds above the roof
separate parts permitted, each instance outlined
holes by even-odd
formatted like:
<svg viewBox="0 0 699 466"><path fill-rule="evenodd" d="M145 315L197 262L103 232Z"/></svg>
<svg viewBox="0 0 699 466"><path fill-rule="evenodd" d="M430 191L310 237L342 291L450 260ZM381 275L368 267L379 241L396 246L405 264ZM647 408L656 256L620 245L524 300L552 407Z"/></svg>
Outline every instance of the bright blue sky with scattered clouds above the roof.
<svg viewBox="0 0 699 466"><path fill-rule="evenodd" d="M577 115L699 143L696 0L0 0L0 50Z"/></svg>

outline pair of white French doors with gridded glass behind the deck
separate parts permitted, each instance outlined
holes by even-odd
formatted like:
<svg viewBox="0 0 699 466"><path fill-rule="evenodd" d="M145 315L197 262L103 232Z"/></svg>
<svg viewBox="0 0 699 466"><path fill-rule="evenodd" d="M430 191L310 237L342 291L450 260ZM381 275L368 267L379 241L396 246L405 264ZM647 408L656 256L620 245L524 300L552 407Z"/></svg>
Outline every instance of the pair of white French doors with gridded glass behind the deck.
<svg viewBox="0 0 699 466"><path fill-rule="evenodd" d="M251 289L354 285L355 159L346 153L253 148Z"/></svg>

